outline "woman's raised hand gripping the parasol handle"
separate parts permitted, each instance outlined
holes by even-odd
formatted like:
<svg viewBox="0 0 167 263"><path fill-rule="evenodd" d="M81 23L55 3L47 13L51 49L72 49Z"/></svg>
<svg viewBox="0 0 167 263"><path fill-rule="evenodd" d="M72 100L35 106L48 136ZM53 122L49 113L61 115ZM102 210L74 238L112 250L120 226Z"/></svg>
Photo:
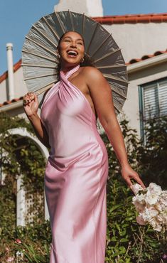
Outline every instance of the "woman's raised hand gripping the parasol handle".
<svg viewBox="0 0 167 263"><path fill-rule="evenodd" d="M39 106L38 97L35 93L28 92L23 97L23 107L27 117L31 117L32 115L37 114L38 106Z"/></svg>

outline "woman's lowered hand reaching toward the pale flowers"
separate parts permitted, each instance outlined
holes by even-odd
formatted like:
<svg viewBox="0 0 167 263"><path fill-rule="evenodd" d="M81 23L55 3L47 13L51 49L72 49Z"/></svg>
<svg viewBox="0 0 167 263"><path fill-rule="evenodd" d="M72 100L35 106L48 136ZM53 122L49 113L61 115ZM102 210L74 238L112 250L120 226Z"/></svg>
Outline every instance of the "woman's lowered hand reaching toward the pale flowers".
<svg viewBox="0 0 167 263"><path fill-rule="evenodd" d="M131 183L131 178L133 178L137 183L139 183L142 188L146 188L146 186L144 186L144 183L141 181L141 178L139 177L139 174L136 173L131 168L131 166L129 166L129 163L127 163L126 165L122 166L122 177L126 181L126 183L129 186L129 188L131 188L131 190L132 190L132 186L133 186L133 184Z"/></svg>

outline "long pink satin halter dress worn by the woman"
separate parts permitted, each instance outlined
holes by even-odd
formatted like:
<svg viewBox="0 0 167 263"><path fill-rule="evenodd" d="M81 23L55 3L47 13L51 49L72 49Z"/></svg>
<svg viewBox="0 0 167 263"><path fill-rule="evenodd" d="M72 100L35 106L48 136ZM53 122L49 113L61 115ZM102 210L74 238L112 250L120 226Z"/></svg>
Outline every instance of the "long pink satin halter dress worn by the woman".
<svg viewBox="0 0 167 263"><path fill-rule="evenodd" d="M80 65L47 93L41 122L51 146L45 168L50 215L50 263L104 263L108 156L85 95L68 81Z"/></svg>

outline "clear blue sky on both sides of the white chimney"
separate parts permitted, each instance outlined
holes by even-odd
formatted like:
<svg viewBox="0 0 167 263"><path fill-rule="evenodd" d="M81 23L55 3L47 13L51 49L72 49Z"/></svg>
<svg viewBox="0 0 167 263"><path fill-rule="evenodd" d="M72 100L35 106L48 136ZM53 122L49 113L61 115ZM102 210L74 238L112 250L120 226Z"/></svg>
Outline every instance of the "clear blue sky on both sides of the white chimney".
<svg viewBox="0 0 167 263"><path fill-rule="evenodd" d="M32 24L52 13L55 4L58 0L0 1L0 75L7 69L6 43L14 44L16 63L21 58L23 41ZM167 0L102 0L102 4L104 16L167 13Z"/></svg>

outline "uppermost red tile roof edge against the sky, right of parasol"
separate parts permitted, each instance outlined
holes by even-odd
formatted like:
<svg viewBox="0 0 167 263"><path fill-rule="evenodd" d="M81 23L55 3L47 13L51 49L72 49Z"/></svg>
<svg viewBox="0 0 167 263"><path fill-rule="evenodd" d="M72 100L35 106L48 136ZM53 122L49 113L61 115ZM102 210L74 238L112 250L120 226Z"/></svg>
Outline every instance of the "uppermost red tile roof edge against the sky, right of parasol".
<svg viewBox="0 0 167 263"><path fill-rule="evenodd" d="M112 25L114 23L161 23L167 22L167 13L161 14L135 14L124 16L94 17L97 22Z"/></svg>

